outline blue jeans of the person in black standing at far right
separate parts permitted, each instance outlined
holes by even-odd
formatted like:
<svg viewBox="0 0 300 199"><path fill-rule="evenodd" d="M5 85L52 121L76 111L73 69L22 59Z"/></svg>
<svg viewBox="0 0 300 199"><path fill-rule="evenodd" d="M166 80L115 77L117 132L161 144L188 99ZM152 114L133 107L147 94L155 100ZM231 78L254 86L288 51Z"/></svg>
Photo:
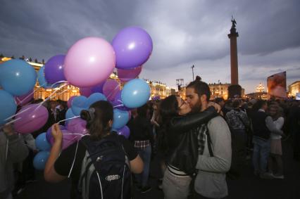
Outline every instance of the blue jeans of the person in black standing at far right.
<svg viewBox="0 0 300 199"><path fill-rule="evenodd" d="M258 137L254 136L253 143L254 171L263 174L267 169L268 158L270 154L270 139L264 141L263 139L259 139Z"/></svg>

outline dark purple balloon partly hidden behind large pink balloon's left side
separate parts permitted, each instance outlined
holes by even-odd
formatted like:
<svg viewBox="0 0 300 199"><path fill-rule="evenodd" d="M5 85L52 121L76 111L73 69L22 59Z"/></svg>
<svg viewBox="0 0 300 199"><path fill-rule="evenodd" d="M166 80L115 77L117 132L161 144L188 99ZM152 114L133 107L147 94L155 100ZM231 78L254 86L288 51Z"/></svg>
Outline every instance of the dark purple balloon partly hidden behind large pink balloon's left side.
<svg viewBox="0 0 300 199"><path fill-rule="evenodd" d="M50 84L54 84L59 81L65 80L63 75L63 61L64 55L58 55L51 57L45 64L44 72L46 81Z"/></svg>

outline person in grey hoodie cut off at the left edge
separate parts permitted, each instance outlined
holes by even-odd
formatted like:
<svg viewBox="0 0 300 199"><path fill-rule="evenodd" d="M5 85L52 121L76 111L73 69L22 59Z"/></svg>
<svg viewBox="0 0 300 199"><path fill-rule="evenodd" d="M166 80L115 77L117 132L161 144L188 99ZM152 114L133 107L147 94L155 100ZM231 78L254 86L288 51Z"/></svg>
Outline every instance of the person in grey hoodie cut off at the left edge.
<svg viewBox="0 0 300 199"><path fill-rule="evenodd" d="M11 124L0 129L0 198L11 199L13 191L13 163L28 155L23 137L13 131Z"/></svg>

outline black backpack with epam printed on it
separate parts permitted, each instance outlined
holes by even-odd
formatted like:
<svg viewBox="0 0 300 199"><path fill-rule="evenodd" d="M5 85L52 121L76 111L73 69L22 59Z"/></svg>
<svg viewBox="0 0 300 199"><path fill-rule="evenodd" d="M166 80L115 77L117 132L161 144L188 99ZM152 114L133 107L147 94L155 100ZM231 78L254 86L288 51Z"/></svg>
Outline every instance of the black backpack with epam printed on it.
<svg viewBox="0 0 300 199"><path fill-rule="evenodd" d="M118 134L101 141L84 136L81 141L87 148L78 184L82 198L130 198L130 165Z"/></svg>

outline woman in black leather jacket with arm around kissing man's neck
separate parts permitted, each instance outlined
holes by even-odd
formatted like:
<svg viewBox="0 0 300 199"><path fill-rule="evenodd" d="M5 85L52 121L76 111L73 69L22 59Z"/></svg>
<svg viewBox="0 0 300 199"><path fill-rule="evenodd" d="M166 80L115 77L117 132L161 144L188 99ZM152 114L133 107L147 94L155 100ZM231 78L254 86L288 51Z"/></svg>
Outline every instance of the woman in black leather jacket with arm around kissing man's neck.
<svg viewBox="0 0 300 199"><path fill-rule="evenodd" d="M197 127L216 115L215 108L189 114L189 105L172 95L161 102L159 109L163 126L160 146L165 146L167 156L163 192L165 198L187 198L198 158Z"/></svg>

